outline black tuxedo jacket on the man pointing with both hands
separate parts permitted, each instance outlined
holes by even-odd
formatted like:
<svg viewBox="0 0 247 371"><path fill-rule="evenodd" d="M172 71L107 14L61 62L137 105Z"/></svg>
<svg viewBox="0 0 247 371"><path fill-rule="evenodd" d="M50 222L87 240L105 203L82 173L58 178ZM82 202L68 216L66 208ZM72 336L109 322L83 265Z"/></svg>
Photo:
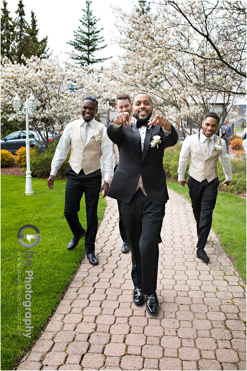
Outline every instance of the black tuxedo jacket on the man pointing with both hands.
<svg viewBox="0 0 247 371"><path fill-rule="evenodd" d="M163 168L164 149L177 143L178 133L171 125L171 134L164 136L160 126L153 124L146 129L144 148L141 148L141 136L133 120L132 126L123 125L117 131L108 124L108 137L119 149L119 164L114 173L108 196L129 203L135 193L140 175L149 200L155 205L162 205L169 199L166 177ZM158 148L151 147L154 135L161 137Z"/></svg>

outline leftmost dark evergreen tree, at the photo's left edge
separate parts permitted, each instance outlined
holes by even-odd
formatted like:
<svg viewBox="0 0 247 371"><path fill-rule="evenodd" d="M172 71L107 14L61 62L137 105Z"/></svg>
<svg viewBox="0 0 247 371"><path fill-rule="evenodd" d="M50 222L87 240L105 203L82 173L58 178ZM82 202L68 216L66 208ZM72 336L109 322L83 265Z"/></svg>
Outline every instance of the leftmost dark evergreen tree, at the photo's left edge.
<svg viewBox="0 0 247 371"><path fill-rule="evenodd" d="M3 1L1 11L1 58L7 57L13 62L14 22L9 16L6 1Z"/></svg>

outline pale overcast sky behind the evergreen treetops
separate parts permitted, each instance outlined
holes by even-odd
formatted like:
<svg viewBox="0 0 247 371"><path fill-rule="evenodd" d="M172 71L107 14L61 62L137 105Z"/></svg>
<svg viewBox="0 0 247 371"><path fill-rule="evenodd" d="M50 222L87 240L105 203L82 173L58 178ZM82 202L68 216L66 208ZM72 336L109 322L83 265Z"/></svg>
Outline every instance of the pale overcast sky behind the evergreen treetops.
<svg viewBox="0 0 247 371"><path fill-rule="evenodd" d="M16 17L16 10L18 8L18 0L6 0L7 9L10 11L12 18ZM96 27L100 29L103 27L101 36L105 39L105 44L110 43L111 31L114 31L115 16L112 13L111 4L121 5L123 10L131 10L132 1L124 0L111 1L111 0L93 0L91 9L93 15L99 19ZM70 40L73 40L73 31L77 30L82 18L82 10L86 8L86 1L82 0L23 0L24 11L26 14L25 19L30 24L31 10L34 11L37 24L39 28L39 40L43 37L48 36L48 44L50 51L54 52L71 52L72 46L66 44ZM3 3L1 1L1 8ZM116 32L115 32L116 34ZM102 44L103 45L103 44ZM101 51L101 57L105 58L108 56L121 54L120 48L116 46L108 46Z"/></svg>

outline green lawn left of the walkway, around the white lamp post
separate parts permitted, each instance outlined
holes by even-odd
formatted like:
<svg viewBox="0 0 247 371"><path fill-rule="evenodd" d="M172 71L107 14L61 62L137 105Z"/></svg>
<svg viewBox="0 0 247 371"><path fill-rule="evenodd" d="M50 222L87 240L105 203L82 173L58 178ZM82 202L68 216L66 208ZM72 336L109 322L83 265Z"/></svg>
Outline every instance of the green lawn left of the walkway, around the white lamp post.
<svg viewBox="0 0 247 371"><path fill-rule="evenodd" d="M65 291L73 272L77 269L85 252L84 239L72 251L67 244L73 237L63 216L66 180L56 180L54 190L49 190L47 181L33 178L34 195L25 195L25 178L1 175L1 370L11 370L16 360L24 354L40 328L46 323L52 310ZM98 217L102 219L105 200L99 199ZM79 219L86 227L84 198ZM17 232L25 224L36 226L41 235L40 242L33 247L33 263L25 267L25 247L17 241ZM23 234L34 233L28 229ZM29 243L27 240L23 240ZM34 242L34 240L32 240ZM19 253L19 255L18 255ZM19 257L20 267L18 268ZM18 334L18 272L21 273L21 300L25 300L25 270L32 270L31 338L23 336L25 310L21 309L21 331Z"/></svg>

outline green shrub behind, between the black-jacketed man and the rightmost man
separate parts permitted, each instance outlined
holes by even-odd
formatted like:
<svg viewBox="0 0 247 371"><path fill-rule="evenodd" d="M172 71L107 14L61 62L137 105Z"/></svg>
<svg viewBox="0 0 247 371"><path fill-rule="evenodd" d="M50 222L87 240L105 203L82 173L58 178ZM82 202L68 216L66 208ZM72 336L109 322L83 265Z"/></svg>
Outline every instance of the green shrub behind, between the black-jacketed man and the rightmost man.
<svg viewBox="0 0 247 371"><path fill-rule="evenodd" d="M173 147L165 148L164 157L163 157L163 167L165 170L165 174L168 179L170 178L178 178L178 162L179 162L179 154L182 148L182 144L177 143ZM189 170L189 162L187 164L186 172L185 172L185 179L188 178L188 170Z"/></svg>

